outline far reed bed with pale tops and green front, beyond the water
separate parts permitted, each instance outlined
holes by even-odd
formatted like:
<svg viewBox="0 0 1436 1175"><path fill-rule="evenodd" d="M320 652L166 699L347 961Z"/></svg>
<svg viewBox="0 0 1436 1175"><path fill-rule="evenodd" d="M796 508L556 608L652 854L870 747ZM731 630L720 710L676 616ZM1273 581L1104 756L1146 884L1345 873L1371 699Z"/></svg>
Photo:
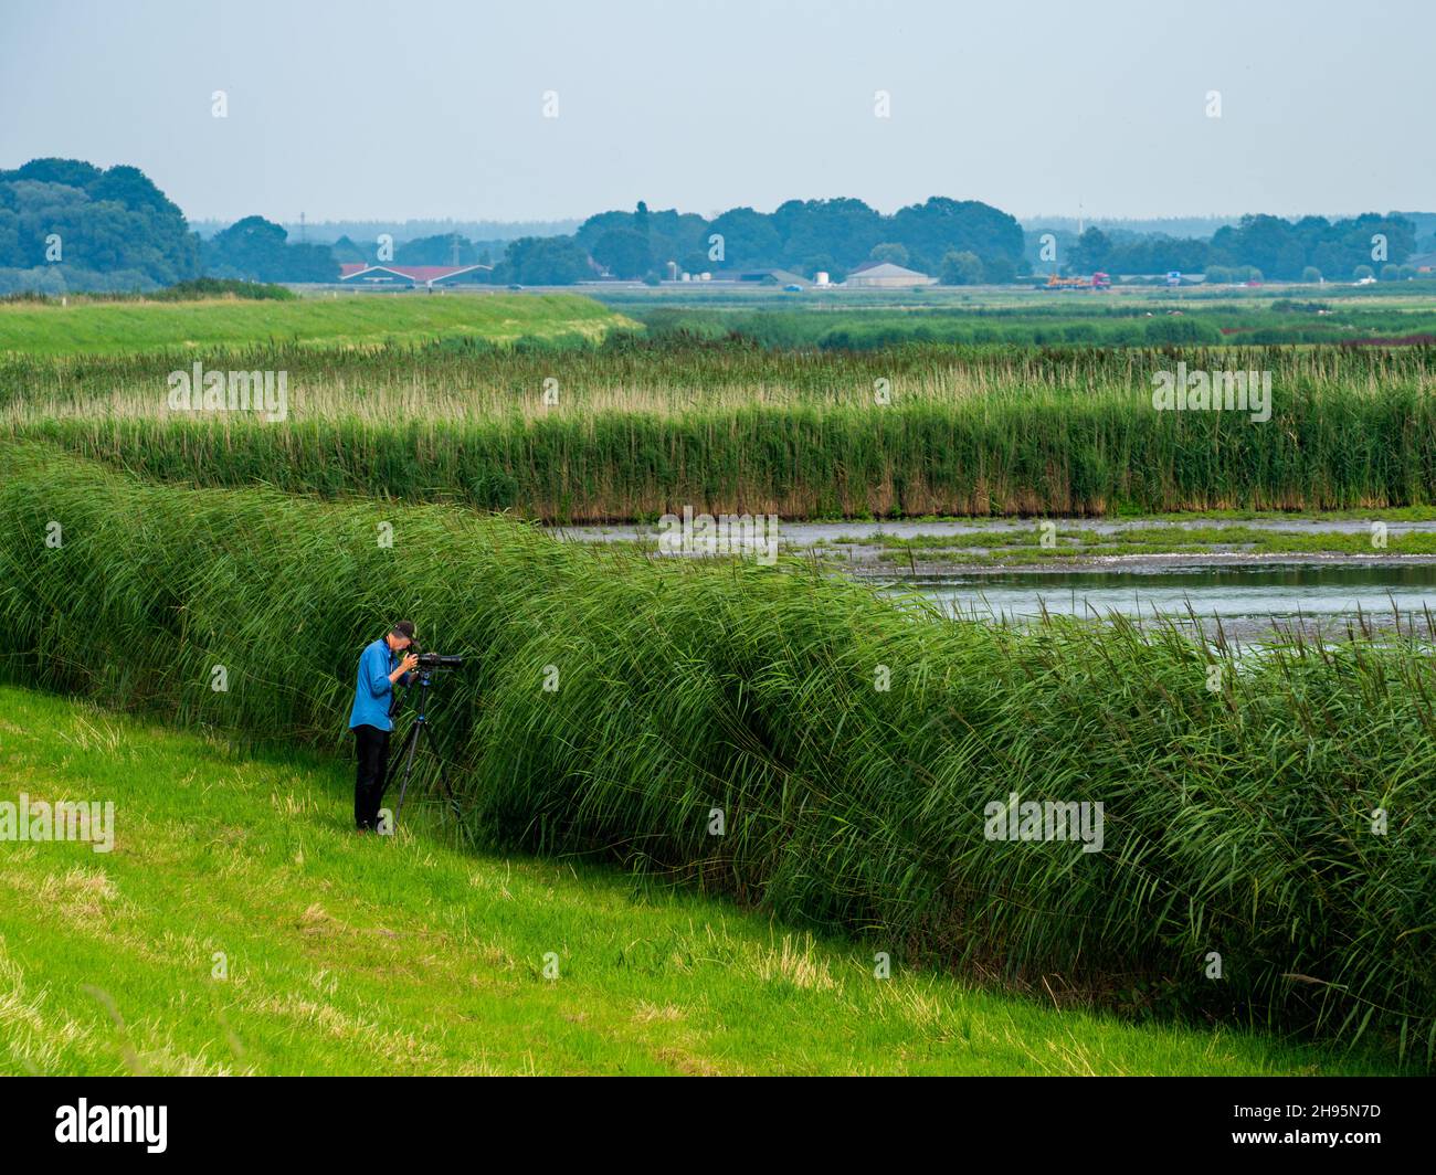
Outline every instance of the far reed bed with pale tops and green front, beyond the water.
<svg viewBox="0 0 1436 1175"><path fill-rule="evenodd" d="M171 412L171 362L11 361L0 432L172 481L455 501L554 523L688 504L784 519L1371 508L1436 491L1420 348L826 355L622 340L208 361L287 369L279 422ZM1179 362L1269 371L1271 419L1155 411L1152 376Z"/></svg>

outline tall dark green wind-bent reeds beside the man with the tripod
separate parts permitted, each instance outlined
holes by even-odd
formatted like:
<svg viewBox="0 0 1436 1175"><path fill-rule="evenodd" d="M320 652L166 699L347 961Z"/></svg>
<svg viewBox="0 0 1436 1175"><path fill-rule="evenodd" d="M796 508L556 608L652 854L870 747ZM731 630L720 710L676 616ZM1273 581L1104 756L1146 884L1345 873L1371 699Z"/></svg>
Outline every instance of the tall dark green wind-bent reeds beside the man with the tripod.
<svg viewBox="0 0 1436 1175"><path fill-rule="evenodd" d="M431 712L477 843L612 858L860 932L899 965L1142 990L1432 1064L1429 644L1291 636L1238 662L1175 628L945 621L794 562L182 490L33 442L3 458L14 679L342 746L359 649L406 615L470 656ZM1011 793L1103 803L1103 850L987 839Z"/></svg>

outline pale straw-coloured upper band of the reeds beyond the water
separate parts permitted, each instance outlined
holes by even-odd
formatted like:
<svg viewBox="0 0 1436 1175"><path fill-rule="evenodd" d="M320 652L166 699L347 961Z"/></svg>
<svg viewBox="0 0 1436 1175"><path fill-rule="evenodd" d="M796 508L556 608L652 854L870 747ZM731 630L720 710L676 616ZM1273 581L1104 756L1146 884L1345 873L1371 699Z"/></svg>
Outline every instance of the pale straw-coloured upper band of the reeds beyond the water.
<svg viewBox="0 0 1436 1175"><path fill-rule="evenodd" d="M495 346L449 339L366 349L260 345L233 349L152 349L134 355L0 355L0 408L10 421L53 415L164 419L167 376L207 369L286 371L293 415L395 422L487 419L758 404L876 407L877 381L893 402L949 402L1008 394L1120 392L1150 401L1152 375L1183 361L1189 369L1271 371L1285 395L1376 392L1433 386L1430 348L1037 349L899 346L879 352L765 349L738 339L649 342L616 333L602 346ZM544 381L556 396L546 402Z"/></svg>

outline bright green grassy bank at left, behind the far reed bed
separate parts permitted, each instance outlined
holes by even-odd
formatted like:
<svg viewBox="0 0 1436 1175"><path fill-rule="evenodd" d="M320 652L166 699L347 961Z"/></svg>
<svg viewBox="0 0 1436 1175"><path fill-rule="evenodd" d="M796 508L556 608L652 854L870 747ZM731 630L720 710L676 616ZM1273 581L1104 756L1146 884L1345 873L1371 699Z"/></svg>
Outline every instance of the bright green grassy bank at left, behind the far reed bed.
<svg viewBox="0 0 1436 1175"><path fill-rule="evenodd" d="M198 350L267 343L379 346L472 338L600 339L632 325L577 294L345 294L296 302L113 302L0 306L0 352Z"/></svg>

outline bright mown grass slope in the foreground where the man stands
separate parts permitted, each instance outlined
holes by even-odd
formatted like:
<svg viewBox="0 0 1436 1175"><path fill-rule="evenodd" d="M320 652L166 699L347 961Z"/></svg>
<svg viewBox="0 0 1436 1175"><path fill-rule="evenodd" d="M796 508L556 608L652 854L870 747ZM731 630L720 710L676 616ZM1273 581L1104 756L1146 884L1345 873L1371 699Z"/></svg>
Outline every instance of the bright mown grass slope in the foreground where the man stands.
<svg viewBox="0 0 1436 1175"><path fill-rule="evenodd" d="M0 800L116 806L111 853L3 845L7 1074L1389 1072L972 991L900 952L877 980L890 942L462 852L415 809L360 837L340 763L10 687L0 715Z"/></svg>

